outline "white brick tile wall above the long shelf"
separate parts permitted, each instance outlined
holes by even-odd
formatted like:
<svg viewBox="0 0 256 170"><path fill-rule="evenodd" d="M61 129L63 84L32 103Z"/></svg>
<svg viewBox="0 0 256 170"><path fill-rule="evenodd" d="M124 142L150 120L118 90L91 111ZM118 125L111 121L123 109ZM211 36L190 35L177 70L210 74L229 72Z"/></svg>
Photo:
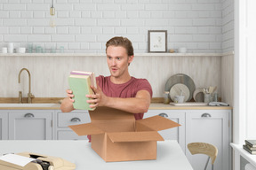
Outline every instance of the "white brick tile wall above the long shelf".
<svg viewBox="0 0 256 170"><path fill-rule="evenodd" d="M65 52L103 53L109 38L123 35L135 52L147 52L148 30L160 29L168 31L168 49L230 51L232 1L54 0L57 27L52 28L51 0L1 0L0 48L14 42L16 47L33 43L48 50L64 46Z"/></svg>

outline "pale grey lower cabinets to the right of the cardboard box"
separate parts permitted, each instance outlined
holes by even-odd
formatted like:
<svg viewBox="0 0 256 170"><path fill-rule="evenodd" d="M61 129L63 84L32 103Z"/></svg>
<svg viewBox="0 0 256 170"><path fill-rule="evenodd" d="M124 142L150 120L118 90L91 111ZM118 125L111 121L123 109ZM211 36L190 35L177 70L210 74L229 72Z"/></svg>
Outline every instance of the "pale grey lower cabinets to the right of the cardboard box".
<svg viewBox="0 0 256 170"><path fill-rule="evenodd" d="M231 110L148 110L144 118L162 115L180 127L159 131L165 140L177 140L194 170L204 169L207 156L191 155L188 143L212 143L218 148L214 169L231 169ZM207 169L211 169L210 166Z"/></svg>

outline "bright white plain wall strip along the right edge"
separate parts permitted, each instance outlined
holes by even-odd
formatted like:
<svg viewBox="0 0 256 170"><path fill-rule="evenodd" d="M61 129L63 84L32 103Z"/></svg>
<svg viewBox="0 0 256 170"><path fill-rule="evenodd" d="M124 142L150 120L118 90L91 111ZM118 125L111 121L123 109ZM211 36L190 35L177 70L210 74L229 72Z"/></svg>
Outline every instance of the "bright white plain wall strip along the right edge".
<svg viewBox="0 0 256 170"><path fill-rule="evenodd" d="M234 143L255 139L256 11L254 0L236 0Z"/></svg>

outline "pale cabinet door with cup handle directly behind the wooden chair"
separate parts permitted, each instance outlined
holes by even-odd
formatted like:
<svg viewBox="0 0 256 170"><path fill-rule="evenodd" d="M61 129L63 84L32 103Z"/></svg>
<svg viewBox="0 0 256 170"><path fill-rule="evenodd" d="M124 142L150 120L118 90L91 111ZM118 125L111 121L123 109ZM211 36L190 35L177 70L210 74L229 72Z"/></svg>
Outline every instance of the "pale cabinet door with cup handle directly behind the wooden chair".
<svg viewBox="0 0 256 170"><path fill-rule="evenodd" d="M186 156L195 170L204 169L207 156L191 155L188 143L212 143L218 148L214 169L228 170L228 110L195 110L186 112ZM211 164L210 164L211 165ZM207 169L211 169L211 166Z"/></svg>

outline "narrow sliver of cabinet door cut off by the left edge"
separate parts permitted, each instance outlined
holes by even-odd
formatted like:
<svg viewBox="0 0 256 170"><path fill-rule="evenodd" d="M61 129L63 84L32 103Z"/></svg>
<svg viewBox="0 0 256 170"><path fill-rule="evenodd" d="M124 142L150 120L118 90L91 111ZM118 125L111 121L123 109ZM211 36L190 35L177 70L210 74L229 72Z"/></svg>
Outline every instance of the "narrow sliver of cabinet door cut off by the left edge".
<svg viewBox="0 0 256 170"><path fill-rule="evenodd" d="M0 111L0 140L8 139L7 118L8 118L8 112Z"/></svg>

